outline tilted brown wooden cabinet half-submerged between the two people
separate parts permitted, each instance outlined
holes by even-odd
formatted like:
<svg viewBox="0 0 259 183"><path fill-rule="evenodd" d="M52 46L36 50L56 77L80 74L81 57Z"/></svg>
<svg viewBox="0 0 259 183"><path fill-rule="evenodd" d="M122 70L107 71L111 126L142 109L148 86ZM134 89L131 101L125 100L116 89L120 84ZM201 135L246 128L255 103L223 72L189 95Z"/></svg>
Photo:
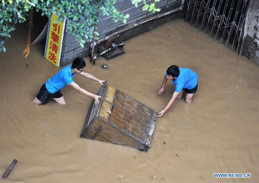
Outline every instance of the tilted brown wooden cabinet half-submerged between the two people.
<svg viewBox="0 0 259 183"><path fill-rule="evenodd" d="M81 137L147 151L157 112L107 82L97 95L102 98L97 106L92 101Z"/></svg>

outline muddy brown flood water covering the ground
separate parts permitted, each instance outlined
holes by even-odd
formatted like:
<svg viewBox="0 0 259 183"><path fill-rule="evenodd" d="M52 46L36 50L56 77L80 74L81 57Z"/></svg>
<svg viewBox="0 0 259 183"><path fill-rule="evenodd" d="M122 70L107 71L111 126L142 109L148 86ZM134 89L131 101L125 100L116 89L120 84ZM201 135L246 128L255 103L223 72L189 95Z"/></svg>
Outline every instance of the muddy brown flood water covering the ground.
<svg viewBox="0 0 259 183"><path fill-rule="evenodd" d="M33 45L24 59L26 39L27 28L20 26L0 54L0 174L18 160L0 182L259 181L259 66L246 57L181 19L127 40L126 53L110 61L101 57L92 65L85 57L84 71L157 112L174 91L167 82L158 95L169 66L198 74L192 103L178 99L157 119L145 153L80 138L92 98L70 86L62 89L66 105L34 104L41 85L62 68L42 57L44 42ZM79 75L74 81L92 93L100 88ZM213 173L251 173L251 178L214 178Z"/></svg>

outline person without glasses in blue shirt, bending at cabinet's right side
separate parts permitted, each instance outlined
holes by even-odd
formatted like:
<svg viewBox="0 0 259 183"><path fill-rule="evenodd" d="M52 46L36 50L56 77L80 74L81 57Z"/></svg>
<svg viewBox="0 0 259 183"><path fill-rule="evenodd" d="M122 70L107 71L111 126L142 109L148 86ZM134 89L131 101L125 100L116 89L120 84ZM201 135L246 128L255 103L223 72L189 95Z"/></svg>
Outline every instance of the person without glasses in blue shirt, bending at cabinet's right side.
<svg viewBox="0 0 259 183"><path fill-rule="evenodd" d="M157 117L161 117L167 109L173 104L174 100L181 98L184 91L186 91L185 102L190 104L194 93L198 88L198 76L195 72L188 68L179 68L178 66L170 66L164 76L162 87L159 89L158 94L161 95L164 91L165 83L167 80L172 80L175 85L175 91L168 102L165 109L163 109Z"/></svg>

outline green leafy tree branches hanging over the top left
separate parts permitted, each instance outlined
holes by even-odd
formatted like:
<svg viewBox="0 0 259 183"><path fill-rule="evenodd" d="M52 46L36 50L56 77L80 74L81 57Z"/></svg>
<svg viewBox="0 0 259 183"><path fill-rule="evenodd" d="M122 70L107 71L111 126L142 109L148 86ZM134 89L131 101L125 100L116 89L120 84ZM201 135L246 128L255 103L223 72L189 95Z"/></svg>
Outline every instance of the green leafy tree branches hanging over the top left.
<svg viewBox="0 0 259 183"><path fill-rule="evenodd" d="M155 3L146 3L146 0L131 0L136 7L143 3L143 11L159 12ZM158 2L160 0L155 0ZM97 39L96 23L100 19L99 12L113 16L114 21L127 23L129 14L120 13L115 7L116 0L2 0L0 3L0 52L5 52L5 42L10 38L10 32L14 31L16 23L26 21L28 11L35 8L41 10L42 16L49 18L52 13L59 16L60 20L68 20L68 28L75 35L77 41L83 47L86 41ZM121 2L123 3L123 1ZM84 20L80 23L80 20Z"/></svg>

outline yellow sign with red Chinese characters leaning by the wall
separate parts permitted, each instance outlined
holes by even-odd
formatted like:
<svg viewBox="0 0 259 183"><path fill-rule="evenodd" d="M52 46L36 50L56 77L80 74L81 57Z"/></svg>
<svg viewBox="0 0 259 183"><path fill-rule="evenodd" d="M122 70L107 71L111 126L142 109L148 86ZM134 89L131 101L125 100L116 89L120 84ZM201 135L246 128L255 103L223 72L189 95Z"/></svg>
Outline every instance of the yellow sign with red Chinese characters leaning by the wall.
<svg viewBox="0 0 259 183"><path fill-rule="evenodd" d="M52 14L51 20L49 22L50 25L48 31L49 37L47 42L46 59L48 59L56 66L59 66L65 21L54 23L57 18L57 15Z"/></svg>

